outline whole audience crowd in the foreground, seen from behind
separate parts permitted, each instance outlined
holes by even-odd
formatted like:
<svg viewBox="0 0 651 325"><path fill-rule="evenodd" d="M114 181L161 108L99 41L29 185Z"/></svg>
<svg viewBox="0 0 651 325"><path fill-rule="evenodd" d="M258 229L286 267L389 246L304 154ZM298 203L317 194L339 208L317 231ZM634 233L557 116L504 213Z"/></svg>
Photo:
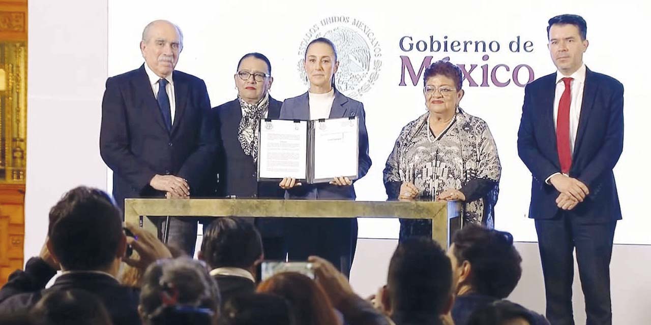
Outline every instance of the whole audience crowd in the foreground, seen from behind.
<svg viewBox="0 0 651 325"><path fill-rule="evenodd" d="M462 228L447 252L427 237L402 240L386 285L368 299L317 256L308 259L314 279L260 281L260 233L239 218L208 226L199 259L181 252L123 225L105 192L74 188L51 208L40 254L0 289L0 324L549 324L505 300L521 257L510 233L482 226Z"/></svg>

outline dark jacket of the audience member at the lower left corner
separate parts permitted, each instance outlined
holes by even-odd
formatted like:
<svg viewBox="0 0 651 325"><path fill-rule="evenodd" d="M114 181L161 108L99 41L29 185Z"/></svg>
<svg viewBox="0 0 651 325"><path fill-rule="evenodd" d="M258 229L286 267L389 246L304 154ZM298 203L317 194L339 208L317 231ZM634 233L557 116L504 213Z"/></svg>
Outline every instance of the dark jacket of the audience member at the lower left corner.
<svg viewBox="0 0 651 325"><path fill-rule="evenodd" d="M25 270L12 273L0 290L0 313L30 309L50 291L81 289L95 294L104 302L113 324L141 324L137 309L138 289L123 287L116 279L96 273L62 274L51 287L44 289L55 274L57 271L42 259L29 259Z"/></svg>

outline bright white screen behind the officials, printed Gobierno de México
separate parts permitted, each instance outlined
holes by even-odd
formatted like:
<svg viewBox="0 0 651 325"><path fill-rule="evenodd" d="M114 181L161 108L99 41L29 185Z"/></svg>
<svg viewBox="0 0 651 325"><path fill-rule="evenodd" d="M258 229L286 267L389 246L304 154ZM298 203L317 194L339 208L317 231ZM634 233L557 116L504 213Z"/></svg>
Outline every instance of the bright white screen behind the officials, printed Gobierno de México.
<svg viewBox="0 0 651 325"><path fill-rule="evenodd" d="M464 64L476 84L464 81L461 106L488 122L503 167L496 226L512 232L519 241L535 241L536 234L527 218L531 174L516 149L523 88L510 80L518 66L520 84L529 77L524 65L536 78L555 72L546 47L547 19L562 13L580 14L588 23L587 66L615 77L625 88L624 154L615 170L624 220L617 226L615 242L651 244L651 220L643 209L650 194L644 185L651 183L643 159L647 156L643 149L648 148L643 123L651 118L651 96L643 75L648 45L638 36L651 10L637 1L598 5L595 1L465 0L445 5L330 0L307 6L304 1L109 0L108 12L108 75L138 68L143 62L138 47L143 27L153 19L169 19L185 36L176 68L206 81L212 106L235 98L236 64L251 51L271 60L274 98L302 94L307 87L298 63L305 42L318 35L337 38L342 61L339 78L348 81L340 89L346 87L344 94L355 94L367 112L373 166L355 183L358 200L386 198L382 170L387 156L400 129L424 112L422 77L417 75L417 86L413 86L403 63L407 59L401 56L408 58L415 73L428 56ZM411 37L411 51L409 38L401 43L404 36ZM441 49L436 43L430 47L430 36L441 43ZM518 36L519 51L514 52L509 45ZM419 40L423 42L417 44ZM472 41L467 52L463 52L464 41ZM476 52L475 41L486 42L486 52L481 48ZM527 51L525 42L530 42ZM459 47L462 51L452 51ZM476 65L474 70L472 65ZM400 86L403 76L406 85ZM506 81L510 83L498 86ZM360 221L360 237L395 238L397 229L396 220Z"/></svg>

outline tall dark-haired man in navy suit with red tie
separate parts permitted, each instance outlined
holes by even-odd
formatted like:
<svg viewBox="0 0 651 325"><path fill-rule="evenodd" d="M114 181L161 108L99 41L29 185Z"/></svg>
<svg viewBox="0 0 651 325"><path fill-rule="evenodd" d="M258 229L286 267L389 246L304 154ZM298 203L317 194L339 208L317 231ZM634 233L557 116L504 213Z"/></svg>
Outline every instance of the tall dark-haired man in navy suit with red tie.
<svg viewBox="0 0 651 325"><path fill-rule="evenodd" d="M549 19L549 53L558 71L525 87L518 153L533 175L535 219L547 318L574 324L574 256L587 324L611 324L610 260L622 218L613 168L624 143L624 86L583 64L581 16Z"/></svg>

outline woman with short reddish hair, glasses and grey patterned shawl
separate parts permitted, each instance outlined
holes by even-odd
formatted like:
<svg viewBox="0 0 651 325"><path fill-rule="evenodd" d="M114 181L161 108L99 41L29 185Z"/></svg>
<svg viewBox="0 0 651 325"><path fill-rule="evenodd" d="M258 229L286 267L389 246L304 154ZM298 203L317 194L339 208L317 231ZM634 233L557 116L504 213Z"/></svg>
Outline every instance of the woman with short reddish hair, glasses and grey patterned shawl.
<svg viewBox="0 0 651 325"><path fill-rule="evenodd" d="M437 61L423 75L427 112L402 128L384 168L389 200L459 200L464 223L493 227L501 165L484 120L468 114L462 72ZM432 221L400 220L400 239L432 236Z"/></svg>

